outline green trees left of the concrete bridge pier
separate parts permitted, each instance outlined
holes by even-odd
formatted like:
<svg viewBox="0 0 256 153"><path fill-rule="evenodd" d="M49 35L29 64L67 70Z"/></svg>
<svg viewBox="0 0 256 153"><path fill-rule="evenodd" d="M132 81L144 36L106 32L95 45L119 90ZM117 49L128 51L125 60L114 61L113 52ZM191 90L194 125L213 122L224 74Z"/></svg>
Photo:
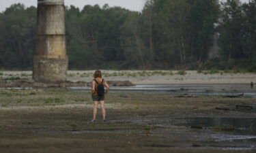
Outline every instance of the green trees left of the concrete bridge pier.
<svg viewBox="0 0 256 153"><path fill-rule="evenodd" d="M36 8L20 3L0 13L0 67L31 67L35 52Z"/></svg>

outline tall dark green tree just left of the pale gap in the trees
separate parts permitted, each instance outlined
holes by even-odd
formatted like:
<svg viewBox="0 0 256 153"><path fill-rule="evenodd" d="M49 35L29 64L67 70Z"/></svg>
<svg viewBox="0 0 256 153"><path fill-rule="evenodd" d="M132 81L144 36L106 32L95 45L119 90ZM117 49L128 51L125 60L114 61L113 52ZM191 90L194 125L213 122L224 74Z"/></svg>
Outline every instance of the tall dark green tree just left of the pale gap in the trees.
<svg viewBox="0 0 256 153"><path fill-rule="evenodd" d="M213 35L220 14L218 0L188 0L191 5L188 17L190 35L189 56L195 61L205 61L212 46Z"/></svg>

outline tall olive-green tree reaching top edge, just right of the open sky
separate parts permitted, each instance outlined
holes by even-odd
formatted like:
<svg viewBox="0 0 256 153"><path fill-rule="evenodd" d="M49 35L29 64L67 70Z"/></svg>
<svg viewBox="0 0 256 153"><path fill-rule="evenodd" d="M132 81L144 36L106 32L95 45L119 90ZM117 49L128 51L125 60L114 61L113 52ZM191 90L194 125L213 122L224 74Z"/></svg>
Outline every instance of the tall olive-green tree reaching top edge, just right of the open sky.
<svg viewBox="0 0 256 153"><path fill-rule="evenodd" d="M158 12L158 26L162 28L162 45L165 44L163 49L167 56L173 59L174 64L186 63L189 12L190 5L186 0L167 0ZM177 61L177 58L180 60Z"/></svg>

